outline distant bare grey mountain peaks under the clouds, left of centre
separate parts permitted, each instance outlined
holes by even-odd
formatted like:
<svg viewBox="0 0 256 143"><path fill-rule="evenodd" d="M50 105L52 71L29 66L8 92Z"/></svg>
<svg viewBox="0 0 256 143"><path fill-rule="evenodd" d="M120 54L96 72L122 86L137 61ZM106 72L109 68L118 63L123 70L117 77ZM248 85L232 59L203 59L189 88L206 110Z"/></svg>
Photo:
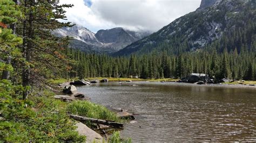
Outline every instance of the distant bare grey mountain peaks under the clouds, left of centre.
<svg viewBox="0 0 256 143"><path fill-rule="evenodd" d="M72 37L74 39L70 44L72 48L78 48L85 52L113 53L150 33L129 31L122 27L99 30L97 33L93 33L83 26L75 25L55 30L53 34L61 37Z"/></svg>

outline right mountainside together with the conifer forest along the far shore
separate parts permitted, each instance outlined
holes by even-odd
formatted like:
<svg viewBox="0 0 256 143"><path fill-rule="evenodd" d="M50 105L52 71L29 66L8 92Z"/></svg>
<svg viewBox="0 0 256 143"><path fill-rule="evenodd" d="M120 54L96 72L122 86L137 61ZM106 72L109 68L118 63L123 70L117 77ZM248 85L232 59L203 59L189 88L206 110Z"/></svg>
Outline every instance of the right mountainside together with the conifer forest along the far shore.
<svg viewBox="0 0 256 143"><path fill-rule="evenodd" d="M70 76L180 78L205 73L217 82L256 80L255 1L207 2L115 53L116 58L66 49L79 61Z"/></svg>

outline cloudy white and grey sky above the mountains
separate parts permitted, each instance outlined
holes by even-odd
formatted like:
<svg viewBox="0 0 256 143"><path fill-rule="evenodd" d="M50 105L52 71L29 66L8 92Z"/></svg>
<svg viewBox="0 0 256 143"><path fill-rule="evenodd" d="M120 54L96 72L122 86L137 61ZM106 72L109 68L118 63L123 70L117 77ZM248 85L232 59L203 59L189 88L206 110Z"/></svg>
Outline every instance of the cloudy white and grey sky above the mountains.
<svg viewBox="0 0 256 143"><path fill-rule="evenodd" d="M125 27L158 31L176 18L199 8L201 0L60 0L73 4L65 9L70 22L93 32Z"/></svg>

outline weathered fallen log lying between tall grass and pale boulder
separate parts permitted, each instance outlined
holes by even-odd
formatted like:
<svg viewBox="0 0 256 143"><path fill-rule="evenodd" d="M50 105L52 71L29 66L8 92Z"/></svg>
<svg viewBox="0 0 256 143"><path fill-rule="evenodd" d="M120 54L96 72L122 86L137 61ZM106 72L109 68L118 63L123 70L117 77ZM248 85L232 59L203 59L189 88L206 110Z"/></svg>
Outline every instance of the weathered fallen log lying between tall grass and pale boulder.
<svg viewBox="0 0 256 143"><path fill-rule="evenodd" d="M107 126L111 126L114 128L123 128L124 127L124 124L122 124L122 123L116 123L114 121L109 121L109 120L93 119L93 118L87 118L87 117L77 116L77 115L69 115L69 117L72 119L78 120L78 121L91 121L91 123L107 125Z"/></svg>

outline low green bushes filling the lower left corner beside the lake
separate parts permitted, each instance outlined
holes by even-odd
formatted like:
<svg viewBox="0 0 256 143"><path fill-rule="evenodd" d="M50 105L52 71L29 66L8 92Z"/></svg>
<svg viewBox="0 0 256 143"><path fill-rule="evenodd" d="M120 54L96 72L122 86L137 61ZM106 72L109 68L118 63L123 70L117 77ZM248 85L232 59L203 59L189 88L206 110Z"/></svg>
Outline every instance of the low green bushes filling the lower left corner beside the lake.
<svg viewBox="0 0 256 143"><path fill-rule="evenodd" d="M62 109L65 103L45 96L23 101L23 90L0 81L0 142L85 141Z"/></svg>

